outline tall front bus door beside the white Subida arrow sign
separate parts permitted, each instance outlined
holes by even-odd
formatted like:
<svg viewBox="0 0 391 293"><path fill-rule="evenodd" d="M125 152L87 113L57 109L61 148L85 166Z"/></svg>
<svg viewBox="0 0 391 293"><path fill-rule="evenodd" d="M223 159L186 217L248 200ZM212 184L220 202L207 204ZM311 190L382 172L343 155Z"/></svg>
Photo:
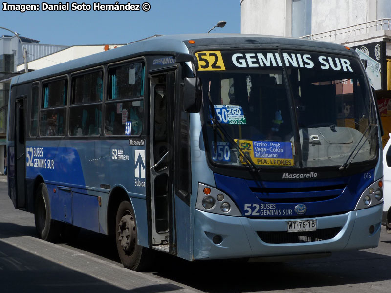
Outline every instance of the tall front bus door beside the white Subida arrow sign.
<svg viewBox="0 0 391 293"><path fill-rule="evenodd" d="M175 73L150 76L150 199L152 245L173 252L173 101Z"/></svg>

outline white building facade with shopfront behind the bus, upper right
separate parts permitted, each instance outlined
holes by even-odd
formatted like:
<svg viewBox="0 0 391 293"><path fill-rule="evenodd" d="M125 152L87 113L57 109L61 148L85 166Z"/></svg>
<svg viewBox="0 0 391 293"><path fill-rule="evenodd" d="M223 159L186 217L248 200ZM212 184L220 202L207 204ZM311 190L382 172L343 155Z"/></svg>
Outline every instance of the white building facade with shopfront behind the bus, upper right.
<svg viewBox="0 0 391 293"><path fill-rule="evenodd" d="M367 60L385 135L391 132L391 0L240 0L241 33L335 42Z"/></svg>

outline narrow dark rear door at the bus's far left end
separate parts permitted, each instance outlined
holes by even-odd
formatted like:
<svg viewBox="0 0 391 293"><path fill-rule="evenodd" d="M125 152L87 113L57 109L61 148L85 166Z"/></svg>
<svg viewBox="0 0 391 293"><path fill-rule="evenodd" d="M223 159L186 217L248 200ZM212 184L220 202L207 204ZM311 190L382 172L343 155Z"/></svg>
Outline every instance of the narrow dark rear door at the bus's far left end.
<svg viewBox="0 0 391 293"><path fill-rule="evenodd" d="M26 97L18 98L15 102L15 187L17 209L26 208L25 176L26 176L26 135L25 113Z"/></svg>

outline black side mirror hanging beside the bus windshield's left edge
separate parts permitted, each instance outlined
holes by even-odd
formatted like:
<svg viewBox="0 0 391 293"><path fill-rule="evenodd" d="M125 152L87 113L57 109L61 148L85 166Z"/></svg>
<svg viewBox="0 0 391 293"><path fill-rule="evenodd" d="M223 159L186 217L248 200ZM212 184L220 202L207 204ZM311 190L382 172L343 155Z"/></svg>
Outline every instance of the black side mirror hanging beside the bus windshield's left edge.
<svg viewBox="0 0 391 293"><path fill-rule="evenodd" d="M201 109L201 81L196 77L186 77L183 87L183 110L198 113Z"/></svg>

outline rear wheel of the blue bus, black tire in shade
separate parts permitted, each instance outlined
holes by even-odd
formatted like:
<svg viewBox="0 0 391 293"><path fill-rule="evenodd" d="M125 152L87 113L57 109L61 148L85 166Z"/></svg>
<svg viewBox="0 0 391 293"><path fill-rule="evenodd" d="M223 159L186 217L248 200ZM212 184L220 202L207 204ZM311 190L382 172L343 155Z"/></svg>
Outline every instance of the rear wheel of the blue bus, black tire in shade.
<svg viewBox="0 0 391 293"><path fill-rule="evenodd" d="M60 223L51 219L49 194L46 184L41 183L34 202L35 230L38 237L49 242L56 242L60 236Z"/></svg>

